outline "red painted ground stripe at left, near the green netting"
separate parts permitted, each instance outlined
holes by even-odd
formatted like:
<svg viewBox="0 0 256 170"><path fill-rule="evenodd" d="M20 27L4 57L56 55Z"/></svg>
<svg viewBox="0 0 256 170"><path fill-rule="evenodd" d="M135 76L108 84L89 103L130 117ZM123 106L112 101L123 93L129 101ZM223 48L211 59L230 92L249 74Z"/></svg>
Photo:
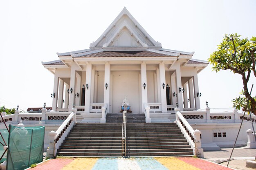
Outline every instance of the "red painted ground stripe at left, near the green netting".
<svg viewBox="0 0 256 170"><path fill-rule="evenodd" d="M61 170L64 166L74 161L74 158L72 159L51 159L49 161L46 161L44 163L41 163L37 165L35 168L31 170Z"/></svg>

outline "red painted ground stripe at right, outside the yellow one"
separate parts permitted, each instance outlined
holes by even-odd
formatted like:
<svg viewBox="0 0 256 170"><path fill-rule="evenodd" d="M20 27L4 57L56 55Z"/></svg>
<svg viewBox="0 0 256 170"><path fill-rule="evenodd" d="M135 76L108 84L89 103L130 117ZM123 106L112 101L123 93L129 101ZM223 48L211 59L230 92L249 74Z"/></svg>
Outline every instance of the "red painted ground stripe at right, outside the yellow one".
<svg viewBox="0 0 256 170"><path fill-rule="evenodd" d="M221 166L216 163L205 161L199 158L179 157L178 159L186 163L189 163L190 165L195 166L196 168L199 168L201 170L233 170L231 168Z"/></svg>

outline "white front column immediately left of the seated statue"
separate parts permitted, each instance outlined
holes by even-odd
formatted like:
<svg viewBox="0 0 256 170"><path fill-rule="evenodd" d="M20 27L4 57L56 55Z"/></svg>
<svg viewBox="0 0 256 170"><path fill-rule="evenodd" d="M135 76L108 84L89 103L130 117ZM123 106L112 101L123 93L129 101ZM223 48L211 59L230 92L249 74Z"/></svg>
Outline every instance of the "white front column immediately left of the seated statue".
<svg viewBox="0 0 256 170"><path fill-rule="evenodd" d="M105 87L105 85L108 84L108 89ZM106 103L107 106L107 113L109 112L109 103L110 103L110 64L108 62L105 63L105 71L104 71L104 104Z"/></svg>

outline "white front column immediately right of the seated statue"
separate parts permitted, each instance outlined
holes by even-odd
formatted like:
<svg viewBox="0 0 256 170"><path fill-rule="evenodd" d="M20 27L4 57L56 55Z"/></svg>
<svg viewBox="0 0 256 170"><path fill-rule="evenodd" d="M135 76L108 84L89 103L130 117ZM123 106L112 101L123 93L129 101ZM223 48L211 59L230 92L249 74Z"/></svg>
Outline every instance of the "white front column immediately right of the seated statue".
<svg viewBox="0 0 256 170"><path fill-rule="evenodd" d="M144 83L146 87L144 89ZM141 63L141 105L142 105L142 112L144 112L144 104L148 104L148 90L147 90L147 68L146 63Z"/></svg>

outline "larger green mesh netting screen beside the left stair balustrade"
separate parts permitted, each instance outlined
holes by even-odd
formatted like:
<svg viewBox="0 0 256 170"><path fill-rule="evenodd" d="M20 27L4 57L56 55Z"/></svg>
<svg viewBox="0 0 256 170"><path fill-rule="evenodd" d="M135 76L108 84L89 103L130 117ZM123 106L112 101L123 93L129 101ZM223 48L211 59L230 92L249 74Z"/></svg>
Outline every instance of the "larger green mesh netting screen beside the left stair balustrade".
<svg viewBox="0 0 256 170"><path fill-rule="evenodd" d="M24 170L43 161L45 127L20 128L9 125L7 170Z"/></svg>

